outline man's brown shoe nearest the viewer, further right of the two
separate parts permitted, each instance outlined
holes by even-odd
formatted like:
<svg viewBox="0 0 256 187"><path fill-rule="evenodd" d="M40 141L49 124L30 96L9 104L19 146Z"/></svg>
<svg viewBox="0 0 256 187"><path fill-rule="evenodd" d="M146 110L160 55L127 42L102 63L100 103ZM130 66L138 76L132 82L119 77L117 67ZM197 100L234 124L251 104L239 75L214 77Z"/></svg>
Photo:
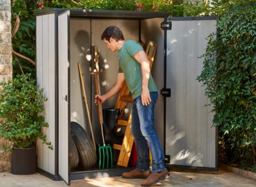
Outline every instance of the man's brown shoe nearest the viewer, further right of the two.
<svg viewBox="0 0 256 187"><path fill-rule="evenodd" d="M164 180L167 177L169 177L169 173L167 170L164 170L162 172L152 172L147 179L142 181L141 186L151 186L153 184L156 184L160 180Z"/></svg>

